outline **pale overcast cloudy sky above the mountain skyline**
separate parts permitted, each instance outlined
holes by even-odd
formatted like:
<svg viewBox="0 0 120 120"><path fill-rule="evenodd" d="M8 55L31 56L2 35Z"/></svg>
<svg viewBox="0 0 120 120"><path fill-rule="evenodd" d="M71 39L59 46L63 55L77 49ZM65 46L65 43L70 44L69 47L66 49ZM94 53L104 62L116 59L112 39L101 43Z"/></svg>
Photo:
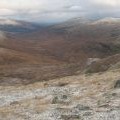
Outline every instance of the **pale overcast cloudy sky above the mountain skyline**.
<svg viewBox="0 0 120 120"><path fill-rule="evenodd" d="M0 0L0 18L55 23L74 17L120 17L120 0Z"/></svg>

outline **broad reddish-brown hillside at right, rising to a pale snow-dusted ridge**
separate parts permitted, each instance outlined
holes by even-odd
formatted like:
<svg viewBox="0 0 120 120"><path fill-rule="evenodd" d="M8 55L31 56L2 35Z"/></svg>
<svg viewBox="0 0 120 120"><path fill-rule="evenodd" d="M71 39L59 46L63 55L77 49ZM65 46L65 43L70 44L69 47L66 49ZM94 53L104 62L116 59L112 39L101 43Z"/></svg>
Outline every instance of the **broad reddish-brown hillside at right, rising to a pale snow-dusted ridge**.
<svg viewBox="0 0 120 120"><path fill-rule="evenodd" d="M86 24L78 21L79 19L74 19L28 33L22 36L22 41L29 39L27 42L43 50L36 49L36 51L70 63L83 64L88 58L104 58L120 52L119 22L99 25L99 23L93 24L96 21Z"/></svg>

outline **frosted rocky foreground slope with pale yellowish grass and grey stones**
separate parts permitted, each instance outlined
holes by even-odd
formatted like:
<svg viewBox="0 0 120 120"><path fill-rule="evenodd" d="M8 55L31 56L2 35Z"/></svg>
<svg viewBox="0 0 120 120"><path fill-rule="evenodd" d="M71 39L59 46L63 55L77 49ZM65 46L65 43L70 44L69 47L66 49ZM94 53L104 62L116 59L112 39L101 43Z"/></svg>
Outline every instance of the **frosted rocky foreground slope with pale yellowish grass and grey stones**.
<svg viewBox="0 0 120 120"><path fill-rule="evenodd" d="M0 86L0 120L120 120L120 70Z"/></svg>

